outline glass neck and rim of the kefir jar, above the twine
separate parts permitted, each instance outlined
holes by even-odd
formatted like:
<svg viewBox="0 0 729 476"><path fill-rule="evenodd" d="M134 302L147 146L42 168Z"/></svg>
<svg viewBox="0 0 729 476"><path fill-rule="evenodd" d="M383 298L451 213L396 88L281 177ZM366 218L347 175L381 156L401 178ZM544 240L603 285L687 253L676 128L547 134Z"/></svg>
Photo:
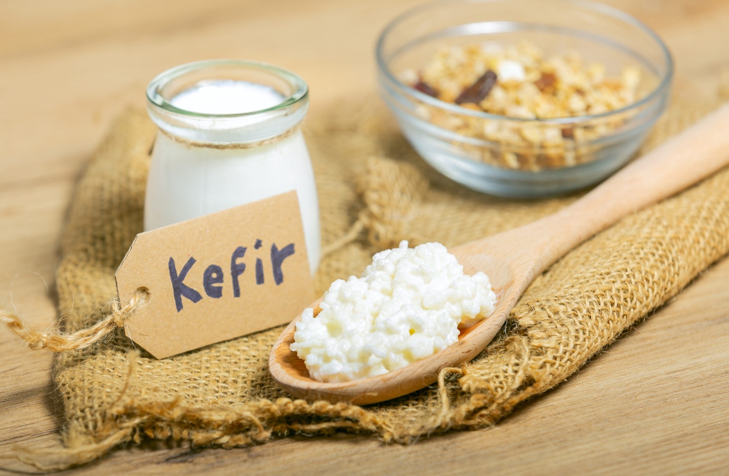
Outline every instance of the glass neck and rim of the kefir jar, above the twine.
<svg viewBox="0 0 729 476"><path fill-rule="evenodd" d="M240 114L206 114L174 106L179 93L201 83L244 81L272 88L280 104ZM149 117L176 140L218 147L254 147L293 133L308 110L308 87L291 71L252 61L198 61L165 71L147 87Z"/></svg>

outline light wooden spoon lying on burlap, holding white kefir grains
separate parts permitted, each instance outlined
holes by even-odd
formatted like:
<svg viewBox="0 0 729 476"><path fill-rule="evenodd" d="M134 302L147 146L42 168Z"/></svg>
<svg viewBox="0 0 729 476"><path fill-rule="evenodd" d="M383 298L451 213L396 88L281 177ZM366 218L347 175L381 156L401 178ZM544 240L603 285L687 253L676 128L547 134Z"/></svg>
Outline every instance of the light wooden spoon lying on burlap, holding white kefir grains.
<svg viewBox="0 0 729 476"><path fill-rule="evenodd" d="M464 329L458 342L419 362L378 377L321 383L289 349L297 317L270 354L271 375L295 397L366 405L399 397L437 381L438 373L474 358L494 338L527 286L568 251L631 214L667 198L729 163L729 104L557 213L529 225L450 249L468 274L483 271L496 292L491 316ZM317 300L312 304L318 312Z"/></svg>

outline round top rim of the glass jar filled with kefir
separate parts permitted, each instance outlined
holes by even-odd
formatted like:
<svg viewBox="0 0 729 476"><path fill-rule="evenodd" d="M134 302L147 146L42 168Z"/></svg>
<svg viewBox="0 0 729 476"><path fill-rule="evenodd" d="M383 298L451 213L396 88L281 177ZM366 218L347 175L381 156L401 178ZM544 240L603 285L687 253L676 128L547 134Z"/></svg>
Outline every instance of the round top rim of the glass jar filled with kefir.
<svg viewBox="0 0 729 476"><path fill-rule="evenodd" d="M188 111L187 109L181 109L179 107L174 106L171 104L170 101L168 101L167 98L160 92L160 90L165 86L168 85L169 82L173 81L174 79L178 79L180 77L183 77L185 74L189 74L193 71L199 71L200 69L206 69L206 68L226 68L226 67L232 67L232 68L239 68L239 69L249 69L249 70L257 70L257 71L263 71L265 73L273 74L274 76L277 76L281 79L284 79L285 82L287 82L292 87L292 93L290 93L284 101L281 101L281 103L276 104L275 106L270 106L265 109L257 109L255 111L249 111L249 112L235 112L232 114L211 114L211 113L201 113L201 112L192 112ZM281 68L280 66L273 66L268 63L263 63L261 61L250 61L250 60L236 60L236 59L217 59L217 60L202 60L202 61L193 61L191 63L184 63L179 66L174 66L171 69L168 69L166 71L163 71L163 73L160 73L155 77L155 79L152 79L152 81L149 82L149 85L147 85L147 101L149 101L149 104L157 106L160 109L163 109L165 112L171 112L173 114L181 114L187 117L198 117L198 118L225 118L225 117L252 117L256 116L258 114L266 114L270 112L279 112L282 109L287 109L290 106L295 106L296 104L299 104L303 101L305 101L308 98L308 85L304 82L303 79L301 79L297 74L295 74L292 71L289 71L288 69Z"/></svg>

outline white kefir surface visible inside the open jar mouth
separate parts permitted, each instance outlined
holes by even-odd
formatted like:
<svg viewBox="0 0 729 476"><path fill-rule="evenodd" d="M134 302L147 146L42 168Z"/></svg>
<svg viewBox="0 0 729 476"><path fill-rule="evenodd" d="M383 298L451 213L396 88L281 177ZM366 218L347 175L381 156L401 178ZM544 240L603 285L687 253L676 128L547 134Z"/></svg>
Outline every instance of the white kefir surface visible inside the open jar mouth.
<svg viewBox="0 0 729 476"><path fill-rule="evenodd" d="M220 79L200 82L176 95L170 104L198 114L243 114L268 109L284 99L270 86Z"/></svg>

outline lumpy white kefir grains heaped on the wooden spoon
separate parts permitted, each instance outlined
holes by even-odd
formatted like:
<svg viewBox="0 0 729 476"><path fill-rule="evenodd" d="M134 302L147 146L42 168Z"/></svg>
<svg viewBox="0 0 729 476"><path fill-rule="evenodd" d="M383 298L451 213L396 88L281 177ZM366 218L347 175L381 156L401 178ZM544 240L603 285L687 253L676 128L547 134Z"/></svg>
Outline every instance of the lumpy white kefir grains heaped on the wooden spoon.
<svg viewBox="0 0 729 476"><path fill-rule="evenodd" d="M488 276L464 275L442 244L402 241L375 254L361 278L332 283L319 315L309 308L297 322L291 349L317 381L382 375L455 343L495 302Z"/></svg>

